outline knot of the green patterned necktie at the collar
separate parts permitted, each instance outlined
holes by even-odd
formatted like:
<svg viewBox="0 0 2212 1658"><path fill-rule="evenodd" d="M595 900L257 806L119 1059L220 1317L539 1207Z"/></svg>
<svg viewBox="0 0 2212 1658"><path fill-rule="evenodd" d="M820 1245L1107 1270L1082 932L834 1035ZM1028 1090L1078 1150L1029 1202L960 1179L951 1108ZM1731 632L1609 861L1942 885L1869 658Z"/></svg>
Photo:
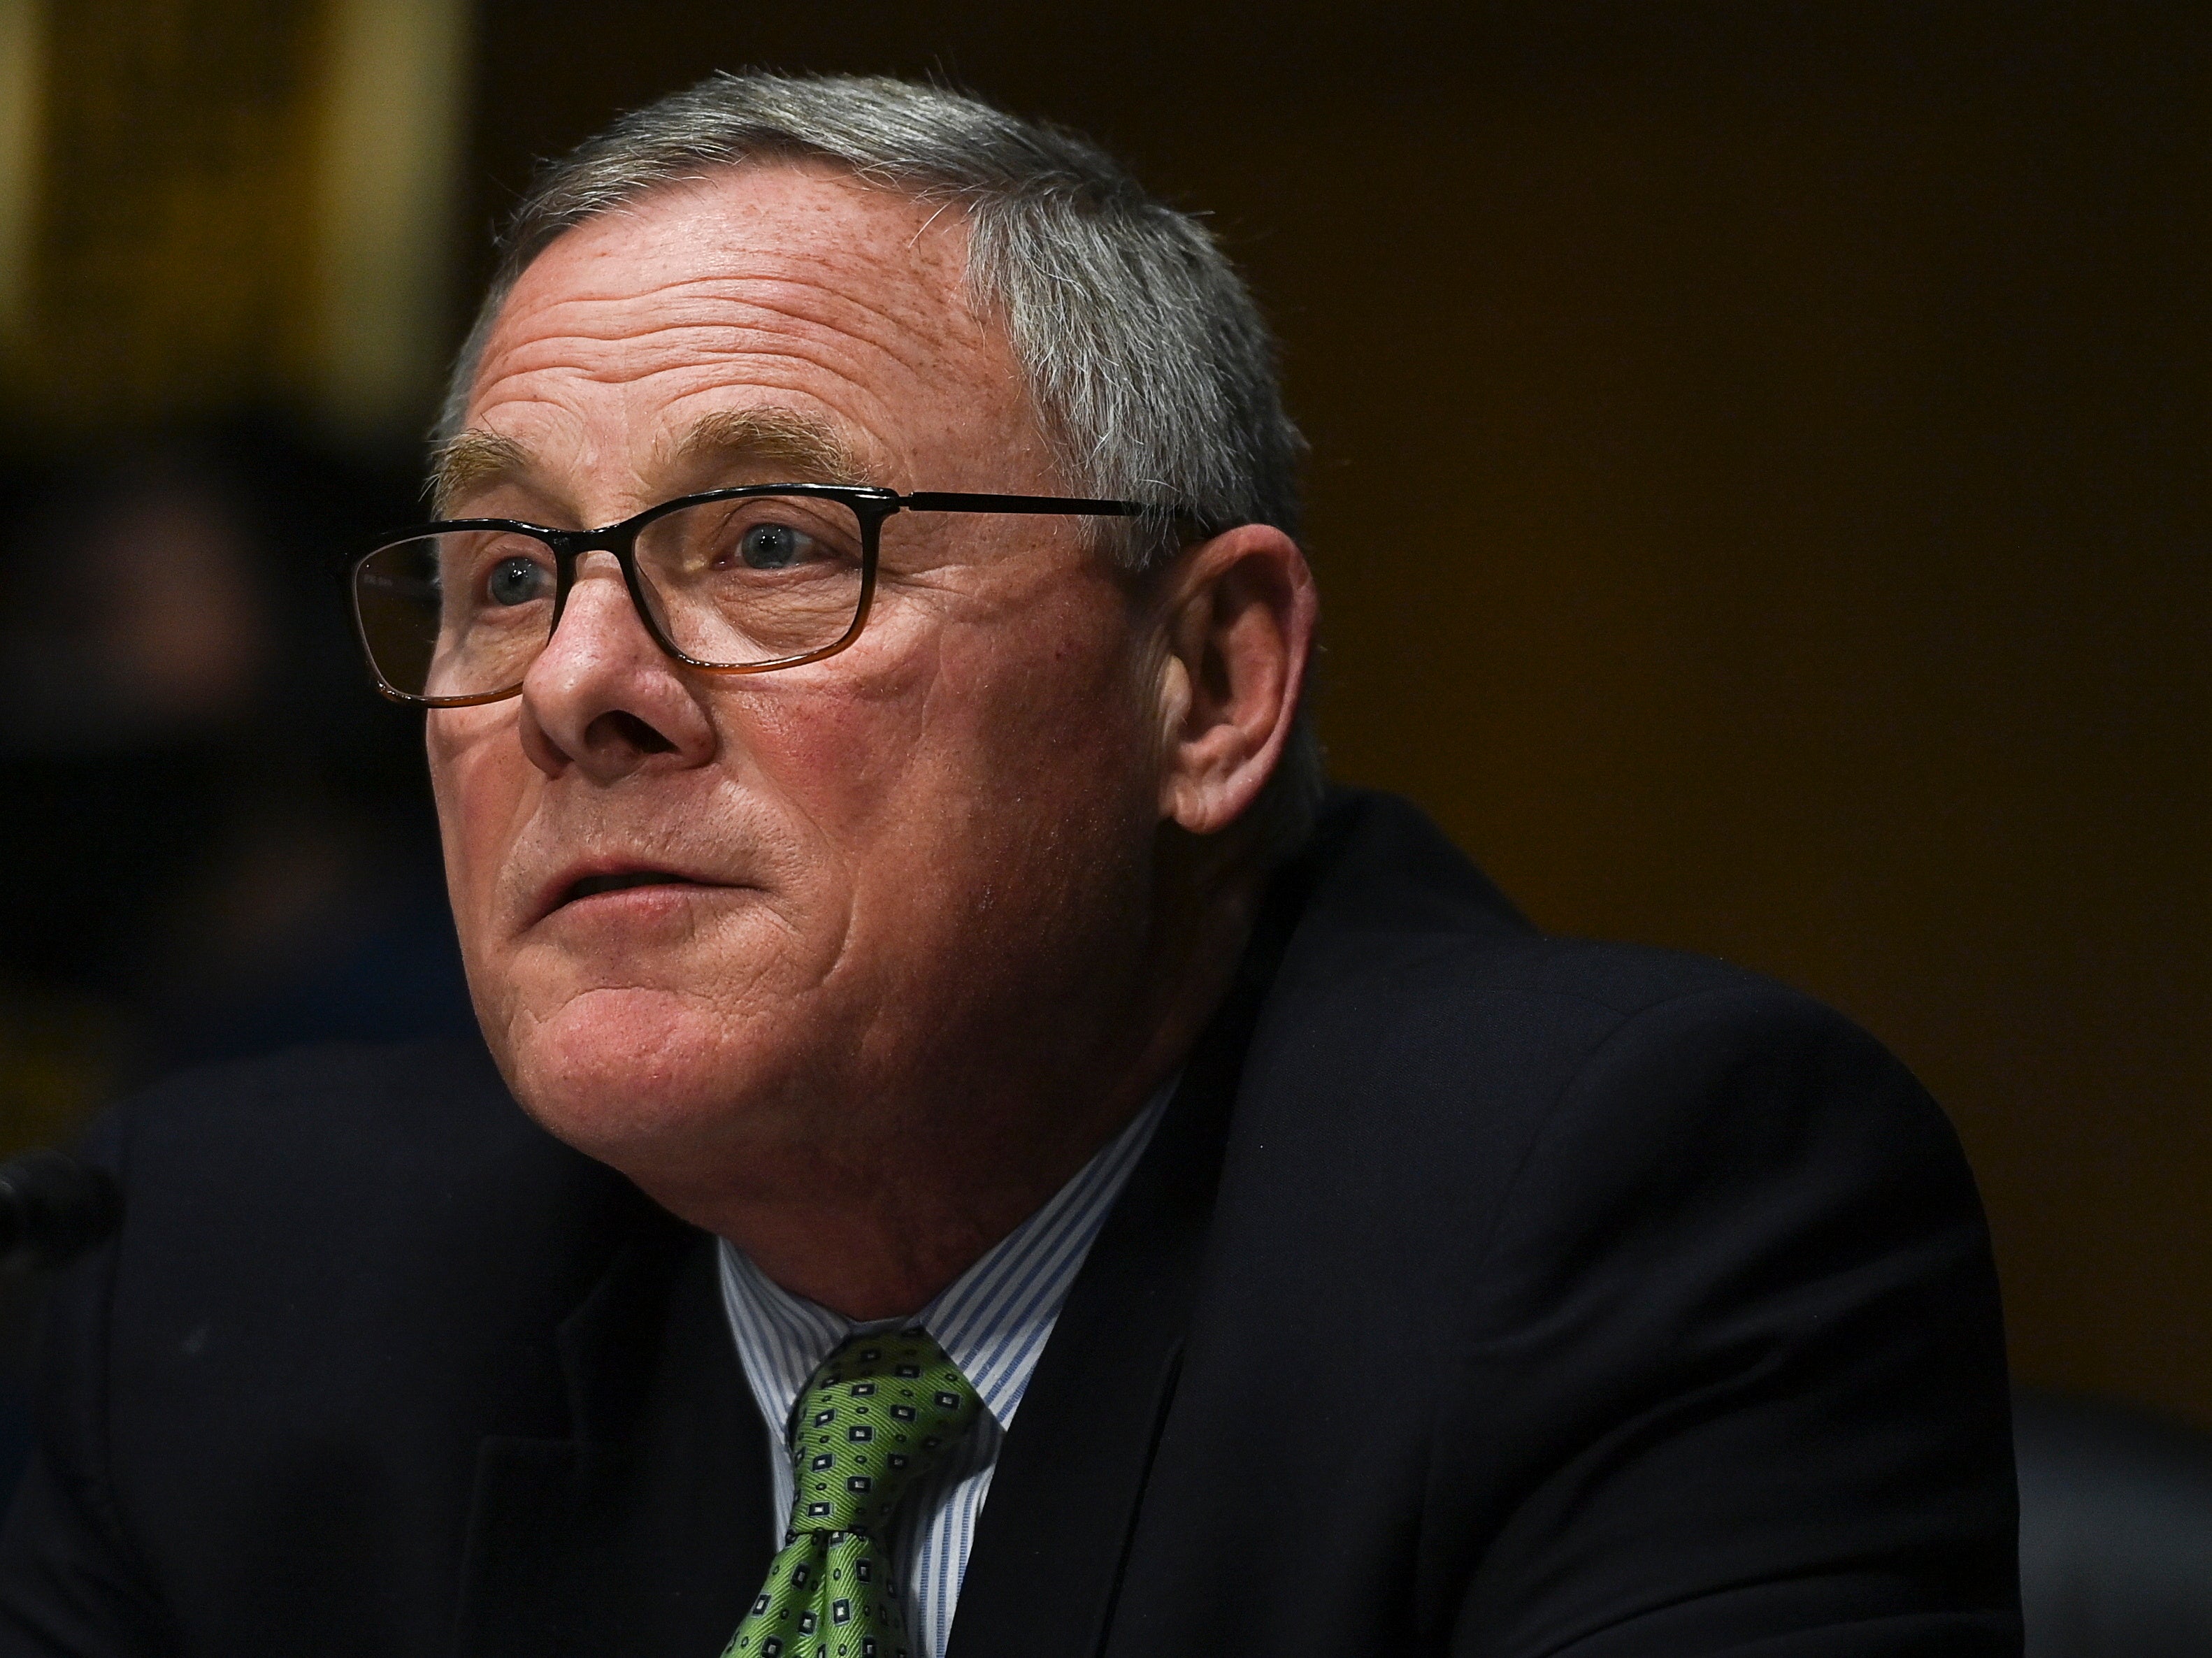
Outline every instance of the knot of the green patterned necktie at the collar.
<svg viewBox="0 0 2212 1658"><path fill-rule="evenodd" d="M980 1413L960 1366L922 1331L854 1335L792 1413L792 1532L880 1536Z"/></svg>

